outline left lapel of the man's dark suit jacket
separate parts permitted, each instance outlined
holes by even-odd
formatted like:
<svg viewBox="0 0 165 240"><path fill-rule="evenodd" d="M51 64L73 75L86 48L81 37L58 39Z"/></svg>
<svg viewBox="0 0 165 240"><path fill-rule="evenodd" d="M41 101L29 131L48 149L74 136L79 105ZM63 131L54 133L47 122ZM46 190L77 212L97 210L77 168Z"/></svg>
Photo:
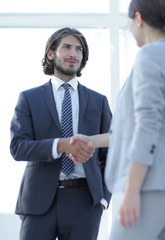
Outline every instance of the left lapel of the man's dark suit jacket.
<svg viewBox="0 0 165 240"><path fill-rule="evenodd" d="M49 108L49 111L55 121L55 124L57 125L58 129L61 131L61 125L60 125L58 114L57 114L51 81L43 85L42 92L43 92L46 104Z"/></svg>

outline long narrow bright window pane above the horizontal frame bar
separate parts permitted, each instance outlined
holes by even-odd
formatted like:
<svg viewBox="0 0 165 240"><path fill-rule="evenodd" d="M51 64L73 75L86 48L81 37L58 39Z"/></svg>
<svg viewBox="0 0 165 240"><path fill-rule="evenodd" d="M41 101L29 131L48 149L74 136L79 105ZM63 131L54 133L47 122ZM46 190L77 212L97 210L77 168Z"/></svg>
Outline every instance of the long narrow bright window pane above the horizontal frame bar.
<svg viewBox="0 0 165 240"><path fill-rule="evenodd" d="M109 1L83 0L6 0L1 4L0 12L10 13L107 13Z"/></svg>

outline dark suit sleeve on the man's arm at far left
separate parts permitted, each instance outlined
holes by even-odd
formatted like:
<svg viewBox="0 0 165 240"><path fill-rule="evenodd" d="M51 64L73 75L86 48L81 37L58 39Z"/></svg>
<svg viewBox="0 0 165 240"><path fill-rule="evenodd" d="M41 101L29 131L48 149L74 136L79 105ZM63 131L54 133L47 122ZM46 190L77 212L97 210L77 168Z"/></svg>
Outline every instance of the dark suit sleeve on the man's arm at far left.
<svg viewBox="0 0 165 240"><path fill-rule="evenodd" d="M10 151L15 160L53 161L52 144L54 139L35 139L33 116L26 91L20 93L11 121L10 132Z"/></svg>

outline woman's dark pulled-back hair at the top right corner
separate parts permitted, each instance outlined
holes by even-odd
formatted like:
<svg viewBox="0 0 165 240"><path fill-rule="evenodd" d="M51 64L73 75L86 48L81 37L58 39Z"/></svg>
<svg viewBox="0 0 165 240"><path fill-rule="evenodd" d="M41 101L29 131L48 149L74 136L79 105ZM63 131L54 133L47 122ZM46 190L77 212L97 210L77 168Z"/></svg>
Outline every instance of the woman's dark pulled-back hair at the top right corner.
<svg viewBox="0 0 165 240"><path fill-rule="evenodd" d="M140 12L142 18L150 26L165 32L165 1L164 0L132 0L128 16L134 18Z"/></svg>

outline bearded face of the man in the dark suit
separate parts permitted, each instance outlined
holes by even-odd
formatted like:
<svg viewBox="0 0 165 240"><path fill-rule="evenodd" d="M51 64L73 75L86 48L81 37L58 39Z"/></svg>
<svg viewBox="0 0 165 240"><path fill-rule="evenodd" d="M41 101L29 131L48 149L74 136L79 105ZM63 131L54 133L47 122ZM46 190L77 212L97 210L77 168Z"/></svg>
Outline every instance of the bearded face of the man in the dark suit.
<svg viewBox="0 0 165 240"><path fill-rule="evenodd" d="M83 48L78 38L68 35L61 39L53 59L54 74L74 77L80 69Z"/></svg>

